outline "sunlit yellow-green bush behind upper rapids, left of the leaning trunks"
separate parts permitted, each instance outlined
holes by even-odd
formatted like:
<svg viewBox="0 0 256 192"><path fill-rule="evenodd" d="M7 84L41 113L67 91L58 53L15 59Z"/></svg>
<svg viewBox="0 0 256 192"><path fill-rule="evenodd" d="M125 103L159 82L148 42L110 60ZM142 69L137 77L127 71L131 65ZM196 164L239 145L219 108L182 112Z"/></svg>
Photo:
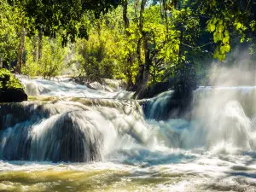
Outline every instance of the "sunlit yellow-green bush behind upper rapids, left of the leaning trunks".
<svg viewBox="0 0 256 192"><path fill-rule="evenodd" d="M119 79L121 75L121 56L124 48L119 42L119 21L113 14L102 16L90 24L90 38L79 39L76 45L78 71L84 72L89 81L100 81L102 78ZM81 68L83 70L81 70Z"/></svg>

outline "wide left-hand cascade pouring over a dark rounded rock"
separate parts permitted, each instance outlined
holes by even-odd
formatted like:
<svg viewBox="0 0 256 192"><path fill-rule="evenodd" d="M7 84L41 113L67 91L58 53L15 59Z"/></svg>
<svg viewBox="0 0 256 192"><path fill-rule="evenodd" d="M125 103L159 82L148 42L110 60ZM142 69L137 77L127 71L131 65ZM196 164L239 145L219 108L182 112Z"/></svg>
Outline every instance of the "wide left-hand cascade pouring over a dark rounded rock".
<svg viewBox="0 0 256 192"><path fill-rule="evenodd" d="M23 102L0 110L2 160L87 162L125 146L150 144L137 102Z"/></svg>

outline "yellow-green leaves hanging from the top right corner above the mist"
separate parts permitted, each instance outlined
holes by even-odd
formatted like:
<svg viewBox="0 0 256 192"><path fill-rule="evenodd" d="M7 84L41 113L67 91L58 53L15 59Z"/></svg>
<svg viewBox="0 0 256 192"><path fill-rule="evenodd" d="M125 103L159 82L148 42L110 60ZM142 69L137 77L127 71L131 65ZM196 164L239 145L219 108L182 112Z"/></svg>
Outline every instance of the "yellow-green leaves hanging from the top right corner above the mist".
<svg viewBox="0 0 256 192"><path fill-rule="evenodd" d="M195 8L207 20L207 31L213 34L217 44L214 58L224 61L231 49L230 36L239 36L243 43L255 31L256 5L254 1L195 1Z"/></svg>

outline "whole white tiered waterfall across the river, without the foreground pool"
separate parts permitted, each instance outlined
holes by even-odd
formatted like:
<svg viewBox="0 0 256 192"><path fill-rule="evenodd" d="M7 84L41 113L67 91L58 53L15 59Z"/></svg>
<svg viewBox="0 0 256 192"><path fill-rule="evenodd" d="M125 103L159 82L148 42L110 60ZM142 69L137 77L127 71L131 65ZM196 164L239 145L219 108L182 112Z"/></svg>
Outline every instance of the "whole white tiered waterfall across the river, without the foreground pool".
<svg viewBox="0 0 256 192"><path fill-rule="evenodd" d="M62 97L0 104L2 160L88 162L130 154L135 148L201 148L228 154L256 149L253 86L200 87L193 93L191 111L178 116L172 90L138 101L140 106L120 99L132 93L106 95L68 79L22 82L34 95ZM84 94L100 98L82 98Z"/></svg>

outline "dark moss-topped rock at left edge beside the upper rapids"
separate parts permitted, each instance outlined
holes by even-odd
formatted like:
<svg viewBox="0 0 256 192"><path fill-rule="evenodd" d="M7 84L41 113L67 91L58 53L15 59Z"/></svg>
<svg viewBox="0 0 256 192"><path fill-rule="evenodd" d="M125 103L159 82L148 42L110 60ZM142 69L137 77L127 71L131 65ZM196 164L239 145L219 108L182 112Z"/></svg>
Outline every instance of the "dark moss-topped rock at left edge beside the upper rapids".
<svg viewBox="0 0 256 192"><path fill-rule="evenodd" d="M27 101L27 95L23 84L9 70L0 69L0 102Z"/></svg>

